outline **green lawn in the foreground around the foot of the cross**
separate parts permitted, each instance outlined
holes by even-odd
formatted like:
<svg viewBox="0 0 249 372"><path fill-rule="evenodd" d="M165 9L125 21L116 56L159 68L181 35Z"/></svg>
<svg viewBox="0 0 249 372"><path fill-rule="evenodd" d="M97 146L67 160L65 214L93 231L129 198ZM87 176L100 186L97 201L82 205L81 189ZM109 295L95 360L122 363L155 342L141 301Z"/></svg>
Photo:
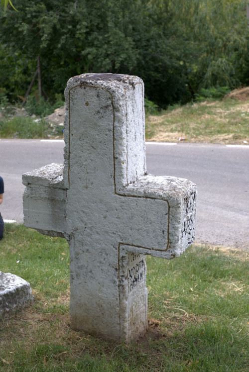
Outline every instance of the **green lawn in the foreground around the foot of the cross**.
<svg viewBox="0 0 249 372"><path fill-rule="evenodd" d="M96 339L69 327L67 242L5 224L1 271L29 281L36 301L0 320L0 371L248 371L248 253L193 245L146 262L149 332Z"/></svg>

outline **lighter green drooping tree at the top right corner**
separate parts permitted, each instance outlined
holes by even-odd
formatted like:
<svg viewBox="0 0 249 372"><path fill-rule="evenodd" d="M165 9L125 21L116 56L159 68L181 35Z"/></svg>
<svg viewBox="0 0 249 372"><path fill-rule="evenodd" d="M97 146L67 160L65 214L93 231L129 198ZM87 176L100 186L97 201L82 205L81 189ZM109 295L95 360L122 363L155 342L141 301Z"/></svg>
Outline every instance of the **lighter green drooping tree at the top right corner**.
<svg viewBox="0 0 249 372"><path fill-rule="evenodd" d="M193 90L241 84L248 45L247 0L174 0L170 9L185 38L184 63Z"/></svg>

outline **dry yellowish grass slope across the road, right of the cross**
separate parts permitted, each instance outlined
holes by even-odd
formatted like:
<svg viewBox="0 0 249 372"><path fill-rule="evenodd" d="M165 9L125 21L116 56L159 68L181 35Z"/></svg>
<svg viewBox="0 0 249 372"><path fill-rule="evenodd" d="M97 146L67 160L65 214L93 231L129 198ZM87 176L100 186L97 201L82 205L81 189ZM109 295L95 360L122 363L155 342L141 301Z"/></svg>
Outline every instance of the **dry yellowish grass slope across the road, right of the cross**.
<svg viewBox="0 0 249 372"><path fill-rule="evenodd" d="M249 100L226 98L174 106L159 115L147 115L147 140L243 144L249 142Z"/></svg>

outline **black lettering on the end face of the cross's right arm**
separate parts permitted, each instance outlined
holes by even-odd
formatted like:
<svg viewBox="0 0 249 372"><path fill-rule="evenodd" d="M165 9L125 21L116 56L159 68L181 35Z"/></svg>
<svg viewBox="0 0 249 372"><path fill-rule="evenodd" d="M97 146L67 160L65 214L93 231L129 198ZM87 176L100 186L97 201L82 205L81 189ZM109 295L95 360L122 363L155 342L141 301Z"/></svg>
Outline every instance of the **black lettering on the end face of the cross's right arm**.
<svg viewBox="0 0 249 372"><path fill-rule="evenodd" d="M183 221L182 237L187 236L188 246L195 239L195 202L196 193L192 192L190 197L185 197L185 218Z"/></svg>

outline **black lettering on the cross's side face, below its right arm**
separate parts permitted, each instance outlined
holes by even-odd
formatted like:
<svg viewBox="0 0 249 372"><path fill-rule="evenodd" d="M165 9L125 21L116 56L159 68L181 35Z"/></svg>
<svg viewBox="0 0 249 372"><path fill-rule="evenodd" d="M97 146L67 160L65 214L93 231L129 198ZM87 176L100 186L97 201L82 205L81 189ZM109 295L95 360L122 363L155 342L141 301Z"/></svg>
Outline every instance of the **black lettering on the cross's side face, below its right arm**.
<svg viewBox="0 0 249 372"><path fill-rule="evenodd" d="M136 255L129 253L129 265L128 265L128 290L129 292L134 289L138 283L145 280L146 276L146 264L143 255Z"/></svg>

